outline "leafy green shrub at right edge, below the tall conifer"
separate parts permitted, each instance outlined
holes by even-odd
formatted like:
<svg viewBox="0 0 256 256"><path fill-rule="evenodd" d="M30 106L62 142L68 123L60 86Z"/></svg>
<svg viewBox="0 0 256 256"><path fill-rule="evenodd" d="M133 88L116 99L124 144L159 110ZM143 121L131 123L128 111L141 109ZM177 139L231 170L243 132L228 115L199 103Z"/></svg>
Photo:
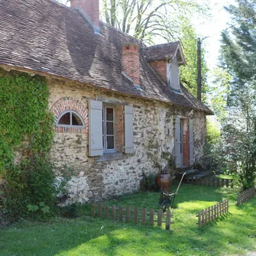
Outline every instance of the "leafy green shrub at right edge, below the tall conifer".
<svg viewBox="0 0 256 256"><path fill-rule="evenodd" d="M228 173L232 173L243 190L254 186L256 172L255 127L248 129L245 116L240 112L229 113L223 128L223 138L225 139L222 141L222 159Z"/></svg>

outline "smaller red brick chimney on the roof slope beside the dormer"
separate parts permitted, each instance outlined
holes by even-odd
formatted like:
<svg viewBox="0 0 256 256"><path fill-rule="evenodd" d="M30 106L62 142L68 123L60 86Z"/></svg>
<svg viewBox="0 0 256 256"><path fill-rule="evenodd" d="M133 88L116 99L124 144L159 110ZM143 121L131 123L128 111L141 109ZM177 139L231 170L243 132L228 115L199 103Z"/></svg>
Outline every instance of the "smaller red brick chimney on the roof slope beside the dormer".
<svg viewBox="0 0 256 256"><path fill-rule="evenodd" d="M140 52L137 44L122 47L122 71L139 86L141 84Z"/></svg>

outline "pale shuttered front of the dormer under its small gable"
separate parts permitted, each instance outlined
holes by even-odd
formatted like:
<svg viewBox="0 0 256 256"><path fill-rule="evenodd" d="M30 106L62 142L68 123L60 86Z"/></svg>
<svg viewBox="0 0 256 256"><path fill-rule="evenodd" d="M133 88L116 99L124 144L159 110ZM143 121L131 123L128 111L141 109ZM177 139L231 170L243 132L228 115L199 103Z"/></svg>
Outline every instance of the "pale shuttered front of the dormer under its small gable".
<svg viewBox="0 0 256 256"><path fill-rule="evenodd" d="M180 71L177 57L167 61L167 84L174 92L180 92Z"/></svg>

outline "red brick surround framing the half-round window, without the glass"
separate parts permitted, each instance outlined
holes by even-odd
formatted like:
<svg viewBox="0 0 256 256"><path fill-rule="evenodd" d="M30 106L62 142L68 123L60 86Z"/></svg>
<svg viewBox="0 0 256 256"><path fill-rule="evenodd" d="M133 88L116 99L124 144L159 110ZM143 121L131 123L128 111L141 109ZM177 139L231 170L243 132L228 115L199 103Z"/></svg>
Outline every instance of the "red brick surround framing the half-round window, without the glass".
<svg viewBox="0 0 256 256"><path fill-rule="evenodd" d="M77 114L80 115L80 117L83 119L83 122L85 124L85 128L67 128L67 127L57 127L57 120L59 119L60 115L63 114L63 112L73 110ZM62 99L57 100L52 107L50 108L50 111L53 112L54 118L55 118L55 131L57 132L73 132L73 133L88 133L88 109L86 106L84 106L82 103L80 103L78 100L70 98L70 97L64 97Z"/></svg>

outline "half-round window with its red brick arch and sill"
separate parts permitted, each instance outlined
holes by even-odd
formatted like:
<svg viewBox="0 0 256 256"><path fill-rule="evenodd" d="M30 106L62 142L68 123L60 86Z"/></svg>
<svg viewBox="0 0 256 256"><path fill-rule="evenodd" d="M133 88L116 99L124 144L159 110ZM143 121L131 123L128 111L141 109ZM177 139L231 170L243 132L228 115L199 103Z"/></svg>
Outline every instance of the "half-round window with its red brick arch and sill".
<svg viewBox="0 0 256 256"><path fill-rule="evenodd" d="M88 109L76 99L60 99L50 110L55 117L56 132L88 133Z"/></svg>

